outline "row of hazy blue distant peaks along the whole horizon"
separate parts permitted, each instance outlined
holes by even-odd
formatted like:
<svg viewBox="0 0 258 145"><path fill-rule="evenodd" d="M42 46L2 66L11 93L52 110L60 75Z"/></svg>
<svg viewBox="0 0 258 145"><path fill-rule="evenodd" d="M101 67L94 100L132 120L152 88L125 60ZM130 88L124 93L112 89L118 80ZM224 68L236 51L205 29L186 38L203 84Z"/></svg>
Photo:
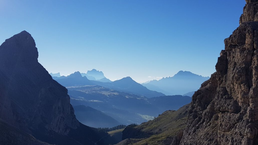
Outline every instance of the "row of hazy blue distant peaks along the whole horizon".
<svg viewBox="0 0 258 145"><path fill-rule="evenodd" d="M190 71L179 71L173 77L165 77L160 80L151 80L139 84L135 82L131 77L125 77L112 82L104 76L102 71L98 71L96 69L87 71L86 74L80 73L79 75L79 73L80 72L77 71L67 77L60 76L60 73L50 73L50 75L53 79L57 80L60 84L66 87L73 85L95 84L117 91L143 95L149 98L164 95L188 95L191 97L194 91L198 90L201 84L209 79L209 77L196 75L191 73ZM68 79L75 74L77 75L77 79Z"/></svg>

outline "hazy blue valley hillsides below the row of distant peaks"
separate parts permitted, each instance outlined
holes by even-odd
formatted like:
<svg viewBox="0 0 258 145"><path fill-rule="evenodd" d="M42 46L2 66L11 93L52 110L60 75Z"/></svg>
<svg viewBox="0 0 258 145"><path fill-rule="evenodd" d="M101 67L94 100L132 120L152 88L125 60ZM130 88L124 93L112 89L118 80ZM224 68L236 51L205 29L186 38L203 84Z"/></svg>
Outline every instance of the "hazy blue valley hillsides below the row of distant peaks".
<svg viewBox="0 0 258 145"><path fill-rule="evenodd" d="M166 110L190 103L189 96L147 98L99 85L67 87L72 106L85 105L100 110L122 124L146 122ZM166 103L162 102L164 100ZM178 101L180 100L180 101Z"/></svg>

